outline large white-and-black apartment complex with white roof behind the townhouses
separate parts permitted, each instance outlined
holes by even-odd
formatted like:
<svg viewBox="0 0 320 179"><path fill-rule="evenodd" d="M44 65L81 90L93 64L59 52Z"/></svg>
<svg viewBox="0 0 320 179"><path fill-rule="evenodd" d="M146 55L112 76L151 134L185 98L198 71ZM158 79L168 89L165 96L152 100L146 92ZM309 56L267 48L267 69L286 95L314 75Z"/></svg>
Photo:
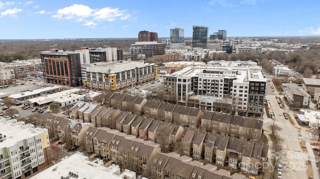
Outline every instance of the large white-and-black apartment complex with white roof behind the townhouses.
<svg viewBox="0 0 320 179"><path fill-rule="evenodd" d="M252 63L212 61L207 65L186 67L164 75L164 91L185 106L189 106L188 98L199 95L211 101L207 103L217 99L224 103L236 101L236 110L245 111L243 115L262 117L266 79L261 67L252 66Z"/></svg>

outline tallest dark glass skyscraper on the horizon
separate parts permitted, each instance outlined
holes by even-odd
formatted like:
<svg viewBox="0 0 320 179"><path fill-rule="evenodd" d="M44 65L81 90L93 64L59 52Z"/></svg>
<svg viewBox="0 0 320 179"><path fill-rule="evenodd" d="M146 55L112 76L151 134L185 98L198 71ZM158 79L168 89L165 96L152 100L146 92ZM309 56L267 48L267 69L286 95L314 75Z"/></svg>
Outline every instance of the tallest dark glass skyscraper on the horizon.
<svg viewBox="0 0 320 179"><path fill-rule="evenodd" d="M196 47L196 44L206 44L207 37L208 27L193 25L192 47Z"/></svg>

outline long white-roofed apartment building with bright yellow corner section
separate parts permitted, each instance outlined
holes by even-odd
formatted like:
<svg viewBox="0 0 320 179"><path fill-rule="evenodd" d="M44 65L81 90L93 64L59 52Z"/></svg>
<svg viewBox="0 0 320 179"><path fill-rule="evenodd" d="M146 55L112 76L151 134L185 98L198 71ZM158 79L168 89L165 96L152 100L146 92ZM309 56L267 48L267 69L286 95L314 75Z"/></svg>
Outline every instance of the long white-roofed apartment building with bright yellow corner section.
<svg viewBox="0 0 320 179"><path fill-rule="evenodd" d="M84 64L86 86L116 91L155 79L157 68L141 61L96 62Z"/></svg>

